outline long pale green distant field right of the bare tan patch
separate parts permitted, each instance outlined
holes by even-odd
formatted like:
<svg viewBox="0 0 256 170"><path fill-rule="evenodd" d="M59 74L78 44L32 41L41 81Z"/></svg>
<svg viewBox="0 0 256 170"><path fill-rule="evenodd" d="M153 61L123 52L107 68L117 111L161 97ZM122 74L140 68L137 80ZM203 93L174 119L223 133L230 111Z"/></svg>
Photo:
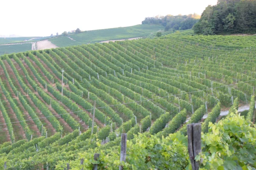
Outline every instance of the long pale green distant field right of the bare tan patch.
<svg viewBox="0 0 256 170"><path fill-rule="evenodd" d="M163 30L163 28L163 26L159 25L137 25L129 27L101 29L84 31L80 34L69 34L68 36L75 41L63 36L49 39L49 41L59 47L64 47L70 45L100 42L105 40L119 40L134 37L143 37L159 30Z"/></svg>

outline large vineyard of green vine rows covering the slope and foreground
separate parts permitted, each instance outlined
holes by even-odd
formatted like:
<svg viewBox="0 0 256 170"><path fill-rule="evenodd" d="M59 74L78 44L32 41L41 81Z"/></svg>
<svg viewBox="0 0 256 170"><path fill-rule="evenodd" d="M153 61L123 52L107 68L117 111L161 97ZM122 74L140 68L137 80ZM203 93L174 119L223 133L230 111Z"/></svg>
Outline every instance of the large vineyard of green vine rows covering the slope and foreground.
<svg viewBox="0 0 256 170"><path fill-rule="evenodd" d="M126 169L185 169L186 125L196 122L207 169L217 166L212 146L230 145L227 134L240 133L237 143L246 138L242 151L250 153L239 157L235 146L225 147L230 164L256 168L255 55L255 36L192 31L3 55L0 169L4 162L7 169L118 169L121 133L128 139ZM245 118L233 114L241 105L250 107ZM243 160L249 163L237 163Z"/></svg>

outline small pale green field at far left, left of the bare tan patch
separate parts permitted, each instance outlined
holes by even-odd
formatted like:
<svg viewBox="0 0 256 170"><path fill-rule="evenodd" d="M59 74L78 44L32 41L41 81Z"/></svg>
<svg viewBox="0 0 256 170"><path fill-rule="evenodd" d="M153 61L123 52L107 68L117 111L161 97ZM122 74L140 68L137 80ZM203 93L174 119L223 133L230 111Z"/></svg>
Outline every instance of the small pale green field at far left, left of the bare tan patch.
<svg viewBox="0 0 256 170"><path fill-rule="evenodd" d="M15 45L0 45L0 55L18 53L31 50L31 43L29 44L15 44Z"/></svg>

